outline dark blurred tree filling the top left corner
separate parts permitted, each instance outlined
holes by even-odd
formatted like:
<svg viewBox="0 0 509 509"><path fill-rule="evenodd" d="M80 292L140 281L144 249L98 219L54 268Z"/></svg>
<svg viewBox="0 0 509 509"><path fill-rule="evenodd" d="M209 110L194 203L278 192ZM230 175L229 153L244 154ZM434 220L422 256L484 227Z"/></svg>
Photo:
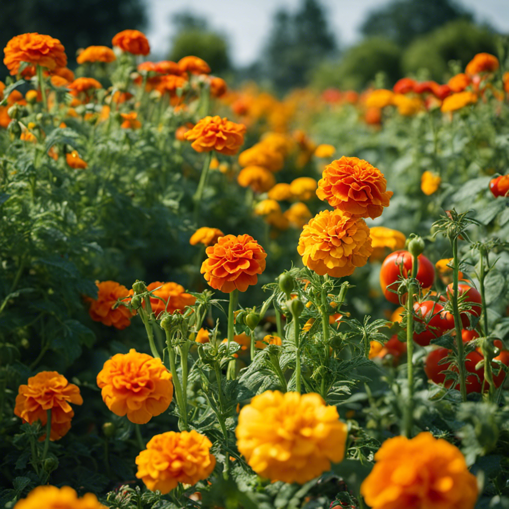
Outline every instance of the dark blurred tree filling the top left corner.
<svg viewBox="0 0 509 509"><path fill-rule="evenodd" d="M78 48L111 46L121 30L144 30L147 25L143 0L2 0L1 5L2 48L19 34L47 34L64 45L70 67L75 66Z"/></svg>

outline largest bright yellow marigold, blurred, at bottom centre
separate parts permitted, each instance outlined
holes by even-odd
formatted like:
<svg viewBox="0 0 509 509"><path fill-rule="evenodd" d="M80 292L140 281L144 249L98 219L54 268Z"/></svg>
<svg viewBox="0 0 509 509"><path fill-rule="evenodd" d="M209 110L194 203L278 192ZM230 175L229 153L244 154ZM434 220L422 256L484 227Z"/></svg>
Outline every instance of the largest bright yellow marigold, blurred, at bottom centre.
<svg viewBox="0 0 509 509"><path fill-rule="evenodd" d="M259 475L303 484L343 460L347 426L319 394L267 390L242 408L235 434Z"/></svg>

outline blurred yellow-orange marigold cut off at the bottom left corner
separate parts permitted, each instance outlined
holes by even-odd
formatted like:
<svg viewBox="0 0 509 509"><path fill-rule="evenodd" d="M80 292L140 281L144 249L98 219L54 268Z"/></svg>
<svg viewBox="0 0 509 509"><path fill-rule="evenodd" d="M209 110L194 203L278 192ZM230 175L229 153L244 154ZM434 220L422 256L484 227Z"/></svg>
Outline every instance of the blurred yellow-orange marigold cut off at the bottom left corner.
<svg viewBox="0 0 509 509"><path fill-rule="evenodd" d="M69 486L38 486L26 498L18 500L14 509L107 509L97 500L93 493L86 493L78 498L77 493Z"/></svg>

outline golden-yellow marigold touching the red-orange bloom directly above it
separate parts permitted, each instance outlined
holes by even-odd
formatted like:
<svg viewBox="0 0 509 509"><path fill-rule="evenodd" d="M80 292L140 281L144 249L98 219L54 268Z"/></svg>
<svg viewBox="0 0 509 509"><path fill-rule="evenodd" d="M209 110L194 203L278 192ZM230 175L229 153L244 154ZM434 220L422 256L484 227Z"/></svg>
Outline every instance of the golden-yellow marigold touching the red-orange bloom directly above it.
<svg viewBox="0 0 509 509"><path fill-rule="evenodd" d="M304 265L317 274L349 276L355 267L366 264L373 251L370 229L359 217L324 210L304 225L297 251Z"/></svg>

